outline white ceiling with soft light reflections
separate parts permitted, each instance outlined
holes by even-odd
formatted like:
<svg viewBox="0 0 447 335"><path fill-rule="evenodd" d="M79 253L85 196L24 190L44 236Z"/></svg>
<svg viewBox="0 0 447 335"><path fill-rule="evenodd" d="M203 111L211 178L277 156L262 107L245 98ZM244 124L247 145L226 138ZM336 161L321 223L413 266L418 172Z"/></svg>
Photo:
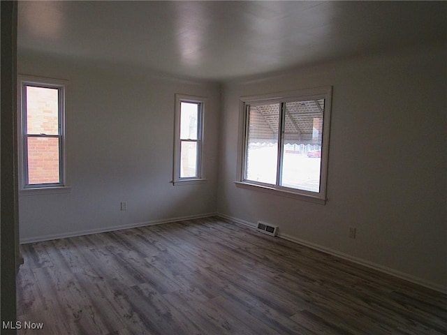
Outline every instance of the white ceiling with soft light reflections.
<svg viewBox="0 0 447 335"><path fill-rule="evenodd" d="M446 1L19 1L19 52L229 80L446 40Z"/></svg>

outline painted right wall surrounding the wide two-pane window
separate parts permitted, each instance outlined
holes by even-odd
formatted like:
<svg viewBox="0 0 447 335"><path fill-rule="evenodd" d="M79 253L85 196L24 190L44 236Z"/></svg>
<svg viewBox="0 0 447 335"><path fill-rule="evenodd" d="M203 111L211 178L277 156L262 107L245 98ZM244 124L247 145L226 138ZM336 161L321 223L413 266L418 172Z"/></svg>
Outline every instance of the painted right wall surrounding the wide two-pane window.
<svg viewBox="0 0 447 335"><path fill-rule="evenodd" d="M446 56L438 45L225 84L218 212L446 288ZM237 188L240 96L327 85L327 203Z"/></svg>

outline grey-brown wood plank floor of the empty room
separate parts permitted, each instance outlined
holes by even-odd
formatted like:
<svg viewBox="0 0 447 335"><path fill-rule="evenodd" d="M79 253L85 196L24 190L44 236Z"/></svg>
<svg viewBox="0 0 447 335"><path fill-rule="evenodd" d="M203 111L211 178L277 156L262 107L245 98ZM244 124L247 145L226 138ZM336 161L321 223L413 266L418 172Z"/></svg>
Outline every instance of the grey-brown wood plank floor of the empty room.
<svg viewBox="0 0 447 335"><path fill-rule="evenodd" d="M22 246L18 334L446 334L447 296L205 218Z"/></svg>

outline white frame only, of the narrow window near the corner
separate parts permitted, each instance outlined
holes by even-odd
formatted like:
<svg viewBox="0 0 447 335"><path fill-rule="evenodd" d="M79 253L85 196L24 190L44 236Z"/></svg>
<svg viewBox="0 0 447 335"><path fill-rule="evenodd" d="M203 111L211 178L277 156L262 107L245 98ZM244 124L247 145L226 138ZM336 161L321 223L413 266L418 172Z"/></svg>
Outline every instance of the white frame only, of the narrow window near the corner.
<svg viewBox="0 0 447 335"><path fill-rule="evenodd" d="M191 185L191 184L203 184L205 183L205 170L203 167L203 115L205 111L205 103L207 99L200 96L189 96L186 94L175 94L175 140L174 140L174 169L173 169L173 185ZM197 150L197 176L196 177L180 177L181 166L181 148L182 141L185 139L180 138L180 117L181 103L196 103L199 105L198 113L198 138L194 142L198 145Z"/></svg>

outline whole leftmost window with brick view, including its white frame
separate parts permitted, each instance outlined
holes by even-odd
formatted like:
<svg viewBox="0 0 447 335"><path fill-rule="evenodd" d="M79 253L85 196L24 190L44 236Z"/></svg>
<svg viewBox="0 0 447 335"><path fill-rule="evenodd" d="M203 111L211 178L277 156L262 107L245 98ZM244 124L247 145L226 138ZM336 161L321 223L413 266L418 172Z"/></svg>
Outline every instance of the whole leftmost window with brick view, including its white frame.
<svg viewBox="0 0 447 335"><path fill-rule="evenodd" d="M66 186L66 82L24 76L18 82L20 184L23 189Z"/></svg>

